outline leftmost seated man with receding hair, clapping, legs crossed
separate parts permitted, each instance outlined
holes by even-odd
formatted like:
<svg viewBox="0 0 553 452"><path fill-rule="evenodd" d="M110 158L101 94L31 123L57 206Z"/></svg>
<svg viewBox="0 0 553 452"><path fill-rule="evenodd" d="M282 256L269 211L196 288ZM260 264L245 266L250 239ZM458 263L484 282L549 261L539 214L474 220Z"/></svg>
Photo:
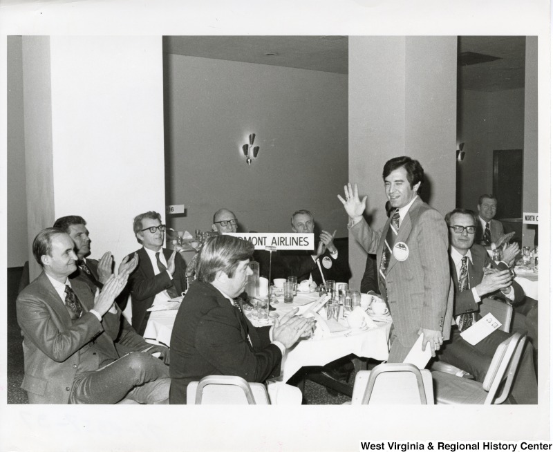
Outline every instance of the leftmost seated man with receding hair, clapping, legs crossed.
<svg viewBox="0 0 553 452"><path fill-rule="evenodd" d="M102 291L68 279L74 243L61 229L39 232L32 253L42 272L17 297L31 404L114 404L122 399L167 403L169 369L133 330L120 328L114 303L136 265L112 275ZM162 350L159 350L160 352Z"/></svg>

